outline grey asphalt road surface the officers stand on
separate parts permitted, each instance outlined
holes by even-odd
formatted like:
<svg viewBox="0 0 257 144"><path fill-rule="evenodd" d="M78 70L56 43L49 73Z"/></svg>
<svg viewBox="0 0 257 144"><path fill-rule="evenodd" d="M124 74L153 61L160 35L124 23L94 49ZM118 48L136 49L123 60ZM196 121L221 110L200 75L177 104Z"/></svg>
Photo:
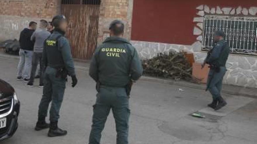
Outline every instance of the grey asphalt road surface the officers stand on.
<svg viewBox="0 0 257 144"><path fill-rule="evenodd" d="M15 88L21 102L19 128L1 144L83 144L88 142L95 102L95 83L88 77L88 63L76 63L78 85L67 83L59 126L67 136L48 138L47 131L34 131L42 88L28 88L16 81L18 60L0 57L0 78ZM38 80L34 83L38 85ZM206 107L211 96L203 90L138 81L130 100L130 144L256 144L257 100L224 95L228 106L218 112ZM204 119L194 118L199 111ZM116 143L110 113L102 144Z"/></svg>

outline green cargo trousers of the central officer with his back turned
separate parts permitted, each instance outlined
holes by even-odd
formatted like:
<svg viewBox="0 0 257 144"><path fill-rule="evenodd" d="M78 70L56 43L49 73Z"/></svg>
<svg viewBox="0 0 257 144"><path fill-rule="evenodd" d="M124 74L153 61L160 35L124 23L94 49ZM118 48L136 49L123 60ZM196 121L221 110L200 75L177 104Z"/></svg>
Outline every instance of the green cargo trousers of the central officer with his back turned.
<svg viewBox="0 0 257 144"><path fill-rule="evenodd" d="M101 86L93 108L93 125L89 144L100 144L101 132L104 129L110 109L112 109L116 123L116 143L128 144L130 110L125 88Z"/></svg>

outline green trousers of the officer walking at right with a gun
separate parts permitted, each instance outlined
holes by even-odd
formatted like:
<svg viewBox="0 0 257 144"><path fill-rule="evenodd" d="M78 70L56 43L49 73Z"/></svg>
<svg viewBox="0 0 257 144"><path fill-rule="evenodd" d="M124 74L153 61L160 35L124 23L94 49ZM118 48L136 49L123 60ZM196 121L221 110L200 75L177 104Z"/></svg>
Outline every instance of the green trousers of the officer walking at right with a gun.
<svg viewBox="0 0 257 144"><path fill-rule="evenodd" d="M215 72L215 70L210 70L208 75L207 85L209 83L208 90L210 91L213 99L220 97L220 92L222 88L223 77L226 73L226 67L220 67L220 72Z"/></svg>

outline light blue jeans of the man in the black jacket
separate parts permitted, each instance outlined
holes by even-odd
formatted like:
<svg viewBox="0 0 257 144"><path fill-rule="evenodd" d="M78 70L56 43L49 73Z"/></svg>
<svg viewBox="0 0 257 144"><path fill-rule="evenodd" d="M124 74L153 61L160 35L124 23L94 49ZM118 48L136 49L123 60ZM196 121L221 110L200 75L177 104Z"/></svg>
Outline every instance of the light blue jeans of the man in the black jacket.
<svg viewBox="0 0 257 144"><path fill-rule="evenodd" d="M25 79L29 79L31 65L32 65L33 51L20 49L19 55L20 55L20 62L18 65L17 76L23 77Z"/></svg>

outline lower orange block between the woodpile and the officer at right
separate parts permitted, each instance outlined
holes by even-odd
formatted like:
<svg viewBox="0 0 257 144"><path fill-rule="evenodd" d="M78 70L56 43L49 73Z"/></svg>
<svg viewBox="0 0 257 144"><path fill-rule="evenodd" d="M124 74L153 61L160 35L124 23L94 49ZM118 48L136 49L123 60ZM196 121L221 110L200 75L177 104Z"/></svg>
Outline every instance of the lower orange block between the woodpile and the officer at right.
<svg viewBox="0 0 257 144"><path fill-rule="evenodd" d="M193 72L192 72L193 78L201 81L201 83L206 83L209 70L210 70L208 66L209 65L206 64L202 69L201 63L193 63Z"/></svg>

